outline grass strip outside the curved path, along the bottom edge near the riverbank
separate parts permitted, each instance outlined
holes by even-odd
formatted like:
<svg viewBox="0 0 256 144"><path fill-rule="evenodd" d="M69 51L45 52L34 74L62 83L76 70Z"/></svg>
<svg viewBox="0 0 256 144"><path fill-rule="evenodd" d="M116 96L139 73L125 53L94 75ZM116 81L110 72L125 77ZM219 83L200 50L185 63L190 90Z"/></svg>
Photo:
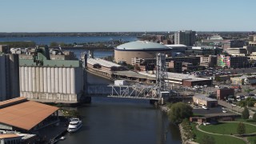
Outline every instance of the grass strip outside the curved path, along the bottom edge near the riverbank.
<svg viewBox="0 0 256 144"><path fill-rule="evenodd" d="M196 134L195 142L200 143L200 139L205 135L205 133L202 133L201 131L196 129L196 124L193 124L193 132ZM245 144L246 142L242 141L242 139L239 138L233 138L229 136L224 136L224 135L214 135L214 134L208 134L210 137L213 137L215 140L215 143L218 144Z"/></svg>

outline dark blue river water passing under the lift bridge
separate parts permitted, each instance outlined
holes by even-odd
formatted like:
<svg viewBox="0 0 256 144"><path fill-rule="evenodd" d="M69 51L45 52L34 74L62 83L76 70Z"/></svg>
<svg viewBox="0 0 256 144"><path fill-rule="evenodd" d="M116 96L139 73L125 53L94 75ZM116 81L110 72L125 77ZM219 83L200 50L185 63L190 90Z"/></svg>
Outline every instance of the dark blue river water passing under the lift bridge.
<svg viewBox="0 0 256 144"><path fill-rule="evenodd" d="M110 81L88 74L90 83ZM178 126L169 124L166 114L148 100L92 98L91 104L77 107L83 126L67 133L62 144L175 144L181 143Z"/></svg>

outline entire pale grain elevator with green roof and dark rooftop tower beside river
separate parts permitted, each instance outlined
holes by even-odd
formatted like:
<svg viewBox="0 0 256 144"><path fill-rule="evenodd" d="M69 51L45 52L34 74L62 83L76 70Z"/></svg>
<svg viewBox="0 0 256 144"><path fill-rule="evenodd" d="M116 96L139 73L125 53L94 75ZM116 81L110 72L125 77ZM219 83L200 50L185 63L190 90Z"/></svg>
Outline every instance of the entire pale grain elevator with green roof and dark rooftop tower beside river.
<svg viewBox="0 0 256 144"><path fill-rule="evenodd" d="M82 62L50 60L48 47L38 47L34 59L20 59L20 94L38 102L80 102L85 91Z"/></svg>

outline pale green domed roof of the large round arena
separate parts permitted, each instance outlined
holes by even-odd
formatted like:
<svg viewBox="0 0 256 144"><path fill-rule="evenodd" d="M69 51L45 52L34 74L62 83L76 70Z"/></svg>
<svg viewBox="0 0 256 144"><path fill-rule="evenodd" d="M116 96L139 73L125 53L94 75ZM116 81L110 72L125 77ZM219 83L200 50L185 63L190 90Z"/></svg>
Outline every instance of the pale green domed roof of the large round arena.
<svg viewBox="0 0 256 144"><path fill-rule="evenodd" d="M169 50L170 48L156 43L156 42L147 42L147 41L135 41L127 42L120 46L117 46L116 50Z"/></svg>

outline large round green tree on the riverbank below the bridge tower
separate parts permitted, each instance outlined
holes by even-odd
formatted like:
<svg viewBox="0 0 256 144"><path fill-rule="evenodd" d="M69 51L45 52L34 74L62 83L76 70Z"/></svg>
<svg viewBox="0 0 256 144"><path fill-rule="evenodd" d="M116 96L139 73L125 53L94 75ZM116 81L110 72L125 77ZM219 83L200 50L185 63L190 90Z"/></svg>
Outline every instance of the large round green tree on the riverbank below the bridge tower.
<svg viewBox="0 0 256 144"><path fill-rule="evenodd" d="M185 118L190 118L193 115L193 108L186 103L177 102L174 103L168 111L168 117L170 122L180 123Z"/></svg>

